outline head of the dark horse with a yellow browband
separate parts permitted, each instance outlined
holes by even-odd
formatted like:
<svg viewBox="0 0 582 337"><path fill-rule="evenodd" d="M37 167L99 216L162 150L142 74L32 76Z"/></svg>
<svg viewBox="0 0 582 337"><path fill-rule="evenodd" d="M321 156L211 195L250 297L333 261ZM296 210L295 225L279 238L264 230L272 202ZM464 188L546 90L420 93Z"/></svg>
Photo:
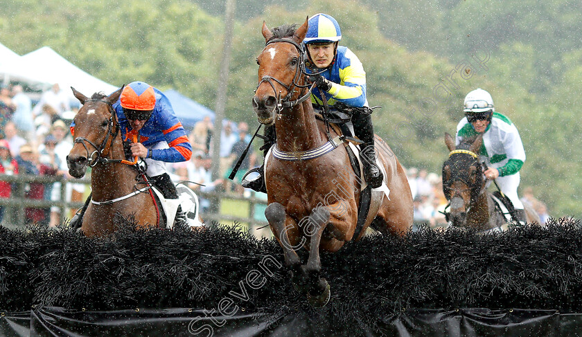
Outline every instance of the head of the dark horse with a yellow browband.
<svg viewBox="0 0 582 337"><path fill-rule="evenodd" d="M466 224L467 212L484 187L483 167L479 163L479 148L483 142L480 134L475 140L460 143L445 134L445 143L450 151L443 164L443 192L450 201L450 218L454 226Z"/></svg>

